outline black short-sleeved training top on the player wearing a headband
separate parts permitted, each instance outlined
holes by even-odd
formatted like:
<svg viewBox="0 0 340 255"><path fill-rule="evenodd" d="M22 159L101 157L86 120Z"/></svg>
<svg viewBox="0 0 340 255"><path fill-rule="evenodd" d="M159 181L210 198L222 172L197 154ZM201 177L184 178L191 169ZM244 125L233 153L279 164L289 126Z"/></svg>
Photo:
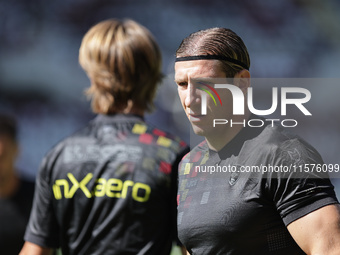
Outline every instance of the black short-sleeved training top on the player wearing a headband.
<svg viewBox="0 0 340 255"><path fill-rule="evenodd" d="M190 254L304 254L286 226L337 203L327 174L308 163L323 162L279 127L243 128L219 152L201 143L181 162L180 241Z"/></svg>

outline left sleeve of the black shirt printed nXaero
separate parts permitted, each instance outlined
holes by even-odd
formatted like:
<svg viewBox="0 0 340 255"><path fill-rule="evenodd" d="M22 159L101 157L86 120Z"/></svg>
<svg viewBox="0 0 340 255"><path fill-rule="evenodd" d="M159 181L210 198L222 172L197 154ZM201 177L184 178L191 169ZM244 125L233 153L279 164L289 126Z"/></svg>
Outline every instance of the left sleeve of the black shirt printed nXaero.
<svg viewBox="0 0 340 255"><path fill-rule="evenodd" d="M47 158L42 161L36 178L33 206L24 239L42 247L59 247L59 230L53 211L53 192Z"/></svg>

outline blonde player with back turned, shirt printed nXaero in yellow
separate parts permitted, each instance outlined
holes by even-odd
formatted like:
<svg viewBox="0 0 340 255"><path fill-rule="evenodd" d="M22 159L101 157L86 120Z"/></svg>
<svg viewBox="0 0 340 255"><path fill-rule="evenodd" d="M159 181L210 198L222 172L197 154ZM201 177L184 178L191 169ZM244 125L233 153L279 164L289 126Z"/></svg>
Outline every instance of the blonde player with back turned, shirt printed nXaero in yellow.
<svg viewBox="0 0 340 255"><path fill-rule="evenodd" d="M43 159L21 254L169 254L187 147L143 119L162 76L158 45L132 20L106 20L79 60L98 116Z"/></svg>

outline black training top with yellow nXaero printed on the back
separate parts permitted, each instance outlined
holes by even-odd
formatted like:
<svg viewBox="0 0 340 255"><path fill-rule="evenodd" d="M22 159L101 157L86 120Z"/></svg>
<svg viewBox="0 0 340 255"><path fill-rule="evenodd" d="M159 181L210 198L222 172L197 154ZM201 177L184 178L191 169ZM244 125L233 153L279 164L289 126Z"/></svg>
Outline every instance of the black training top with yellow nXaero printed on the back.
<svg viewBox="0 0 340 255"><path fill-rule="evenodd" d="M99 115L42 161L25 240L67 254L169 254L187 147L133 115Z"/></svg>

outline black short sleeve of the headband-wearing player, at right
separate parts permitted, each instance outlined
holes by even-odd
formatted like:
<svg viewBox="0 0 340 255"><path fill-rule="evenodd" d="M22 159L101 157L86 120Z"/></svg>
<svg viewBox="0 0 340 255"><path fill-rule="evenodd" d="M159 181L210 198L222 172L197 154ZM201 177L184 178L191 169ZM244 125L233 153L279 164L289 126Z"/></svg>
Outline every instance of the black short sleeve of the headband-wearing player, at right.
<svg viewBox="0 0 340 255"><path fill-rule="evenodd" d="M308 164L323 164L313 147L295 139L274 154L273 164L281 166L281 171L267 179L267 187L286 226L323 206L338 203L328 174L304 169Z"/></svg>

